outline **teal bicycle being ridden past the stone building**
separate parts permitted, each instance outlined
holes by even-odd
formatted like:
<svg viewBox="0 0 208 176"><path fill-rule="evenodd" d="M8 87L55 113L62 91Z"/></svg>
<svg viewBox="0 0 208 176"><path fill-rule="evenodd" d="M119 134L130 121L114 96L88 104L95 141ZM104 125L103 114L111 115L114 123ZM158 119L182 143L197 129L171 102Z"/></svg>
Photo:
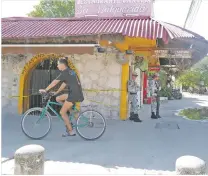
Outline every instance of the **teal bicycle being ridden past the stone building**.
<svg viewBox="0 0 208 176"><path fill-rule="evenodd" d="M35 139L35 140L43 139L51 131L51 127L52 127L51 118L52 117L51 117L51 114L49 113L49 109L56 115L56 117L58 117L58 119L61 119L63 121L63 119L59 115L59 113L51 106L51 105L62 106L62 104L60 104L60 103L51 101L51 98L53 97L53 93L41 93L41 96L42 96L43 108L35 107L35 108L31 108L31 109L27 110L24 113L24 115L22 117L22 120L21 120L21 128L22 128L23 133L27 137L29 137L31 139ZM88 106L92 107L91 105L88 105ZM82 106L82 107L88 107L88 106ZM35 111L40 112L40 115L37 116L38 119L35 120L34 126L40 125L41 124L40 122L42 122L42 124L46 125L46 128L40 128L39 130L35 131L36 134L41 131L41 134L39 136L36 136L36 137L34 135L31 135L30 132L29 132L29 130L31 130L32 128L29 128L29 130L26 130L26 128L27 128L26 120L28 120L28 119L31 120L32 117L34 117L33 114L34 114ZM105 118L102 116L102 114L93 110L92 108L91 108L91 110L85 110L81 113L78 113L78 112L79 111L76 108L76 105L74 105L72 107L72 110L71 110L70 115L69 115L70 122L72 122L73 119L76 121L75 124L72 124L72 127L76 128L77 134L85 140L95 140L95 139L100 138L106 130L106 121L105 121ZM30 113L32 113L32 116L30 115ZM77 113L79 115L78 115L78 118L76 120L75 114L77 114ZM91 116L88 119L88 117L84 114L87 114L87 115L91 114ZM84 129L85 127L89 127L89 128L92 129L93 127L95 127L95 122L92 121L92 119L95 117L95 115L97 115L99 117L96 120L101 120L101 123L98 123L98 124L101 124L102 130L97 134L93 133L93 134L96 134L94 137L92 137L92 136L87 137L86 133L81 132L81 129ZM98 127L95 127L95 128L98 129ZM46 131L42 132L42 130L46 130Z"/></svg>

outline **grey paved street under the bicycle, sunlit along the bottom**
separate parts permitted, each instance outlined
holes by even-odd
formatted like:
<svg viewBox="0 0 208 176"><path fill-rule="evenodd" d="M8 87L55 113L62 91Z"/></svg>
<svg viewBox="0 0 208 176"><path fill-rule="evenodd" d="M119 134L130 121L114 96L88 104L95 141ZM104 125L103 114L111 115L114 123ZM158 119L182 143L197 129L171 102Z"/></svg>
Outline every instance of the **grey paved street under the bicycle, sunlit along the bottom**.
<svg viewBox="0 0 208 176"><path fill-rule="evenodd" d="M163 103L163 118L159 120L151 120L150 109L145 106L141 112L143 123L108 120L105 135L93 142L84 141L78 136L61 138L62 123L57 120L53 120L52 132L45 139L33 141L22 134L18 116L4 115L2 157L11 157L23 145L40 144L46 149L46 158L64 162L56 163L57 167L54 167L54 162L49 162L46 165L47 173L55 169L56 173L73 174L174 171L175 161L182 155L195 155L208 163L208 123L189 121L174 115L178 109L199 106L208 106L208 96L190 97L186 94L182 100ZM169 123L170 126L158 129L155 128L157 123ZM180 129L174 129L175 125ZM9 172L12 165L2 165L3 171Z"/></svg>

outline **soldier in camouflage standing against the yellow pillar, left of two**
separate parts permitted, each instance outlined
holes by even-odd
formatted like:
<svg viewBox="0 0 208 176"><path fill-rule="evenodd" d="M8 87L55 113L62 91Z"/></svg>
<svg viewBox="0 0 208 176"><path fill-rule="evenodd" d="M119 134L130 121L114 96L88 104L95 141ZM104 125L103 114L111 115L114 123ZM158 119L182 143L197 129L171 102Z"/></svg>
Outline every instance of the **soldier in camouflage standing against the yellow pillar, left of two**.
<svg viewBox="0 0 208 176"><path fill-rule="evenodd" d="M129 92L129 101L131 103L130 106L130 117L129 120L133 120L134 122L142 122L139 119L139 97L138 97L138 92L139 92L139 86L136 83L136 78L137 78L137 73L133 72L132 73L132 80L128 81L128 92Z"/></svg>

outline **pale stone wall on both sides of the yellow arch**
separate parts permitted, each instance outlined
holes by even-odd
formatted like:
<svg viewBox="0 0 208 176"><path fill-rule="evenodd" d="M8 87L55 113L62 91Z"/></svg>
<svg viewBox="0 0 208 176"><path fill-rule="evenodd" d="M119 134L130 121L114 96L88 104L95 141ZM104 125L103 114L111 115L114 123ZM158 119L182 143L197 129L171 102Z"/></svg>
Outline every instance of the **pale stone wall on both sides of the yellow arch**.
<svg viewBox="0 0 208 176"><path fill-rule="evenodd" d="M66 55L67 56L67 55ZM2 107L12 108L17 113L20 74L24 65L33 57L31 54L2 55ZM68 55L80 73L83 89L102 91L84 91L85 101L82 104L94 104L106 118L119 118L121 65L116 62L115 53L95 53L94 55ZM99 102L99 103L97 103ZM9 110L11 112L11 110Z"/></svg>

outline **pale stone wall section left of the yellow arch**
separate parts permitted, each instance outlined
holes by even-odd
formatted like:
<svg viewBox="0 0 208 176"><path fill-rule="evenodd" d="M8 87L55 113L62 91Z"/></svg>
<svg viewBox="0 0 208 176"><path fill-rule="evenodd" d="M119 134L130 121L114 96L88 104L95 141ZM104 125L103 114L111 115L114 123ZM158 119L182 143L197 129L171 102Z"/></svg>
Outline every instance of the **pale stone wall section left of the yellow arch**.
<svg viewBox="0 0 208 176"><path fill-rule="evenodd" d="M21 54L2 55L2 112L17 114L20 73L32 58Z"/></svg>

